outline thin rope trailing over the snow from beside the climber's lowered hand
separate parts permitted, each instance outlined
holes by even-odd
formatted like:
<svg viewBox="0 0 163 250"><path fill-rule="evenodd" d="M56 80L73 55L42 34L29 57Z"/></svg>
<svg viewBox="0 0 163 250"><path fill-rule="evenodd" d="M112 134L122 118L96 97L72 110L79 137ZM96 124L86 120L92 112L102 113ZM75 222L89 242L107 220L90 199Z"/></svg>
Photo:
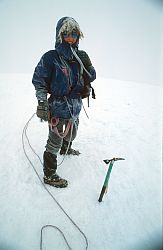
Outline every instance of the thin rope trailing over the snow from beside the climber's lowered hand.
<svg viewBox="0 0 163 250"><path fill-rule="evenodd" d="M57 199L53 196L53 194L48 190L48 188L45 186L44 182L42 181L41 177L39 176L34 164L32 163L31 159L29 158L26 149L25 149L25 138L27 140L28 146L31 148L32 152L38 157L39 161L41 162L41 164L43 165L39 155L35 152L34 148L31 146L31 143L29 141L28 135L27 135L27 129L28 129L28 125L30 123L30 121L33 119L33 117L35 116L35 113L29 118L29 120L27 121L27 123L25 124L24 128L23 128L23 132L22 132L22 146L23 146L23 151L24 154L27 158L27 160L29 161L31 167L33 168L35 174L37 175L38 179L40 180L43 188L45 189L45 191L51 196L52 200L58 205L58 207L61 209L61 211L66 215L66 217L70 220L70 222L74 225L74 227L81 233L81 235L84 237L85 240L85 249L88 249L88 239L86 237L86 235L84 234L84 232L80 229L80 227L75 223L75 221L68 215L68 213L65 211L65 209L61 206L61 204L57 201ZM58 227L53 226L53 225L44 225L41 228L41 233L40 233L40 250L43 250L43 231L45 228L51 227L53 229L56 229L60 232L60 234L62 235L67 247L69 250L72 250L72 248L70 247L64 233L62 232L62 230L60 230Z"/></svg>

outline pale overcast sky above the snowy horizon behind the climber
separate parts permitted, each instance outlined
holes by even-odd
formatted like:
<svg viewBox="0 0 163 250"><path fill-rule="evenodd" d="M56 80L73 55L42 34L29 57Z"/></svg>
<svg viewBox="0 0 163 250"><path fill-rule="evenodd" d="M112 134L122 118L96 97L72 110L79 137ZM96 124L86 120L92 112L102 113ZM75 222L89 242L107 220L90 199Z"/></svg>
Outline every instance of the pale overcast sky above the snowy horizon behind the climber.
<svg viewBox="0 0 163 250"><path fill-rule="evenodd" d="M0 73L33 74L54 48L57 21L72 16L85 35L80 49L99 77L159 83L162 2L0 0Z"/></svg>

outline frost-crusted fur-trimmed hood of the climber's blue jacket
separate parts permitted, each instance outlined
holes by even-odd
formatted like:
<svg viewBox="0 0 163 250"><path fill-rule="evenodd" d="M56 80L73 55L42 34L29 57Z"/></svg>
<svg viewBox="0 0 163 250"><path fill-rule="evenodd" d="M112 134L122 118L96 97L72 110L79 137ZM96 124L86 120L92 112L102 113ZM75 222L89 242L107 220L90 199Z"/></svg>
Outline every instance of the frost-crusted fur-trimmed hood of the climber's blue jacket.
<svg viewBox="0 0 163 250"><path fill-rule="evenodd" d="M83 38L83 33L80 29L79 24L75 21L74 18L72 17L62 17L56 26L56 42L55 42L55 47L57 47L59 44L63 42L62 40L62 33L64 31L66 32L72 32L73 30L76 30L79 33L79 39ZM76 42L75 46L78 46L79 39Z"/></svg>

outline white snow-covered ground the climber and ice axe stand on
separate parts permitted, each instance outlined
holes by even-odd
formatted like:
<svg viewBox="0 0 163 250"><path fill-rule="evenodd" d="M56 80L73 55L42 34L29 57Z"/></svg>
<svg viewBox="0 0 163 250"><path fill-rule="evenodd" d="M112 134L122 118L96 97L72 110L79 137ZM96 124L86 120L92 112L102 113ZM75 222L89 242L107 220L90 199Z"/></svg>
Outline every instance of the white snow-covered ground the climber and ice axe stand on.
<svg viewBox="0 0 163 250"><path fill-rule="evenodd" d="M36 110L31 75L0 75L0 250L39 250L40 229L59 227L73 250L86 248L81 233L44 190L22 148L22 131ZM89 250L161 249L161 86L97 79L97 99L84 101L73 143L80 156L66 156L58 173L66 189L48 187L88 238ZM27 134L42 158L47 123L34 116ZM42 165L25 141L43 177ZM108 193L98 202L107 172L104 159L124 157L111 173ZM59 162L62 157L59 156ZM47 228L43 250L68 249Z"/></svg>

